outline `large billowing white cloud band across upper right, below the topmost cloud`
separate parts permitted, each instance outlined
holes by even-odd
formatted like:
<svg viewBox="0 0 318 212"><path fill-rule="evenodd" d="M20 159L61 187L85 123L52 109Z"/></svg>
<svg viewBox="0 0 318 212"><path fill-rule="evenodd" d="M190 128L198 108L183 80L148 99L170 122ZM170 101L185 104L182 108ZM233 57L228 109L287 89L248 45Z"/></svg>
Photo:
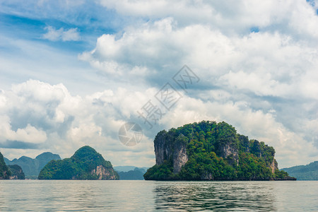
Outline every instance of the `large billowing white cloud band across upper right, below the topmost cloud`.
<svg viewBox="0 0 318 212"><path fill-rule="evenodd" d="M316 47L280 33L228 36L207 25L178 27L173 18L165 18L127 28L117 39L102 35L95 49L80 58L112 77L129 78L134 69L143 70L141 78L167 75L163 71L188 64L215 86L257 95L315 98L317 81L307 76L317 78ZM310 83L302 85L302 81Z"/></svg>

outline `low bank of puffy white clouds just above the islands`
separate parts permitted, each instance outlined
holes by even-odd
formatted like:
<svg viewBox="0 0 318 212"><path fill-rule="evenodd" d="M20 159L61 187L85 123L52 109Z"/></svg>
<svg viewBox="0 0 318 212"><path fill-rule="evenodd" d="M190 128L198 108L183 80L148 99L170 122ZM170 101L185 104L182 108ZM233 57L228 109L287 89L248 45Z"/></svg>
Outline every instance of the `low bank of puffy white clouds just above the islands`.
<svg viewBox="0 0 318 212"><path fill-rule="evenodd" d="M224 120L249 139L274 146L281 167L317 159L313 156L317 153L313 143L278 122L275 111L253 110L245 100L233 102L224 90L211 90L210 98L205 100L182 93L175 107L165 111L154 129L148 129L137 111L148 100L159 105L151 98L157 92L157 88L144 93L118 88L81 97L71 95L62 84L52 86L30 80L14 85L0 95L1 151L18 155L21 151L13 146L19 141L69 157L77 148L90 145L116 165L152 165L153 138L159 130L205 119ZM142 142L133 147L124 146L118 139L120 126L129 121L139 124L144 134ZM315 130L317 119L306 123L303 131Z"/></svg>

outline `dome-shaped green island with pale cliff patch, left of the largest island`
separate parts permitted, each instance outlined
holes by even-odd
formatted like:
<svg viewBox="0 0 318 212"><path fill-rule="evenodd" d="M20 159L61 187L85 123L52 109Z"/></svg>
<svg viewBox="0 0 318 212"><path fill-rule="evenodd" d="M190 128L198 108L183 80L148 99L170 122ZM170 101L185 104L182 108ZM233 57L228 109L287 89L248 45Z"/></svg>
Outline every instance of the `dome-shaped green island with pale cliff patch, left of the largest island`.
<svg viewBox="0 0 318 212"><path fill-rule="evenodd" d="M119 175L94 148L83 146L71 158L51 160L38 179L119 179Z"/></svg>

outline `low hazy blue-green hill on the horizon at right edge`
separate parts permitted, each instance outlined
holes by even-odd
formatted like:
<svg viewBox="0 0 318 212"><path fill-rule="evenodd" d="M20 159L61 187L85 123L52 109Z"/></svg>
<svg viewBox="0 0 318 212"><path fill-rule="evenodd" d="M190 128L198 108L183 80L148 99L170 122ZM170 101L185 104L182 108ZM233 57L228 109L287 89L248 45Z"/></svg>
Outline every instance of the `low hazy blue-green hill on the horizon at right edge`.
<svg viewBox="0 0 318 212"><path fill-rule="evenodd" d="M314 161L307 165L297 165L293 167L283 168L290 176L299 180L318 180L318 161Z"/></svg>

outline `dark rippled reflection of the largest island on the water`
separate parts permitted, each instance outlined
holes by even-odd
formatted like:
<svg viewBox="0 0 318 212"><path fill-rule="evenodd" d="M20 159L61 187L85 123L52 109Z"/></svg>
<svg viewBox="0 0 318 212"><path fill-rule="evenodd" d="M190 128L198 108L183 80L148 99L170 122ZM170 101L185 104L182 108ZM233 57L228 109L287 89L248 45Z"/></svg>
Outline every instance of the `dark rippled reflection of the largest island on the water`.
<svg viewBox="0 0 318 212"><path fill-rule="evenodd" d="M155 208L187 211L277 211L273 184L266 182L160 182Z"/></svg>

